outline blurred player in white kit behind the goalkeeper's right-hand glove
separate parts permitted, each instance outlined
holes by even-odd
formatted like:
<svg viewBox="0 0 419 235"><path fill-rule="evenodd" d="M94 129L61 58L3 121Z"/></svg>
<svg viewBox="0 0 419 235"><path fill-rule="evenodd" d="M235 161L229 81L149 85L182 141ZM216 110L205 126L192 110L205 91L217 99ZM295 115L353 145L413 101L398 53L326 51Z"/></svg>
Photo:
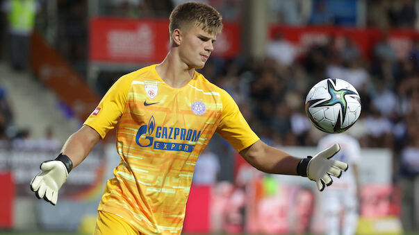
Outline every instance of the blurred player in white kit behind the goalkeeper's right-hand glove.
<svg viewBox="0 0 419 235"><path fill-rule="evenodd" d="M340 152L336 153L334 159L345 162L350 167L339 179L334 179L334 183L322 193L322 205L327 218L325 234L355 234L359 217L357 165L361 159L361 147L356 139L347 134L328 134L320 139L318 148L323 149L334 143L340 145Z"/></svg>

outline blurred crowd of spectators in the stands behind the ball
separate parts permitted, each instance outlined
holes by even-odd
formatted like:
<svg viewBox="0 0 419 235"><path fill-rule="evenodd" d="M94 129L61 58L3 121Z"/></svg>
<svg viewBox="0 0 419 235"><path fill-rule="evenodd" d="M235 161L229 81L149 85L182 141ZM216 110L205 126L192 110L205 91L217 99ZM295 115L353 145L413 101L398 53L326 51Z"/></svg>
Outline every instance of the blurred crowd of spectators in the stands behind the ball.
<svg viewBox="0 0 419 235"><path fill-rule="evenodd" d="M342 78L361 96L361 117L349 132L362 147L392 148L396 156L418 148L418 42L400 59L385 33L370 58L345 42L338 48L331 37L297 56L293 44L277 37L266 58L213 58L202 73L233 96L255 132L273 145L314 146L322 133L306 119L306 94L324 78Z"/></svg>

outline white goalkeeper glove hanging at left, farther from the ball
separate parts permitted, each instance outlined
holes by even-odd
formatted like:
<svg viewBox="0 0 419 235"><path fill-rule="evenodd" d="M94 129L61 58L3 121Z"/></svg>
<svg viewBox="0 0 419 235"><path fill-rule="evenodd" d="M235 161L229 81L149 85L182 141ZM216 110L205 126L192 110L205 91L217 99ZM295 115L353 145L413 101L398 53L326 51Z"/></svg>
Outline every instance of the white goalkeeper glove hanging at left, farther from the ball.
<svg viewBox="0 0 419 235"><path fill-rule="evenodd" d="M55 160L42 162L42 171L31 181L31 190L38 199L44 198L51 204L57 204L58 190L67 180L72 167L72 160L63 154L58 155Z"/></svg>

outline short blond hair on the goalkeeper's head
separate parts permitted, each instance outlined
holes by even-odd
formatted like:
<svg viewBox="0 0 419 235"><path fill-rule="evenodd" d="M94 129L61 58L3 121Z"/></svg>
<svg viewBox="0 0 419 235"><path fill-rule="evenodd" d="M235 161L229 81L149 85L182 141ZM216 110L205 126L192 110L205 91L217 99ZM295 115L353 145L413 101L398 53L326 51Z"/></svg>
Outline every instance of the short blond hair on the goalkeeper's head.
<svg viewBox="0 0 419 235"><path fill-rule="evenodd" d="M176 6L170 13L170 42L172 33L176 28L186 30L188 27L200 26L208 33L220 33L222 31L222 16L212 6L199 2L187 2Z"/></svg>

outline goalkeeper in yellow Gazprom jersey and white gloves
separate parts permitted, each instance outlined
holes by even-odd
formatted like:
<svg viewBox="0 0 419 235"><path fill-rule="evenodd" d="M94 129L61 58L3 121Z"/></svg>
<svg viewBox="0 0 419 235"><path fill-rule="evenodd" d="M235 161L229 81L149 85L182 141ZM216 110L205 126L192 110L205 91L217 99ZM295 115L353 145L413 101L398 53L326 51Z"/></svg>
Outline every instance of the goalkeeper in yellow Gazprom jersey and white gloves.
<svg viewBox="0 0 419 235"><path fill-rule="evenodd" d="M31 182L38 198L56 204L69 171L108 130L117 128L121 156L99 204L96 234L181 234L195 162L214 132L267 173L307 176L320 190L347 164L329 159L336 144L300 159L263 143L223 89L195 69L213 51L222 17L204 3L183 3L170 15L169 53L122 76L54 160Z"/></svg>

